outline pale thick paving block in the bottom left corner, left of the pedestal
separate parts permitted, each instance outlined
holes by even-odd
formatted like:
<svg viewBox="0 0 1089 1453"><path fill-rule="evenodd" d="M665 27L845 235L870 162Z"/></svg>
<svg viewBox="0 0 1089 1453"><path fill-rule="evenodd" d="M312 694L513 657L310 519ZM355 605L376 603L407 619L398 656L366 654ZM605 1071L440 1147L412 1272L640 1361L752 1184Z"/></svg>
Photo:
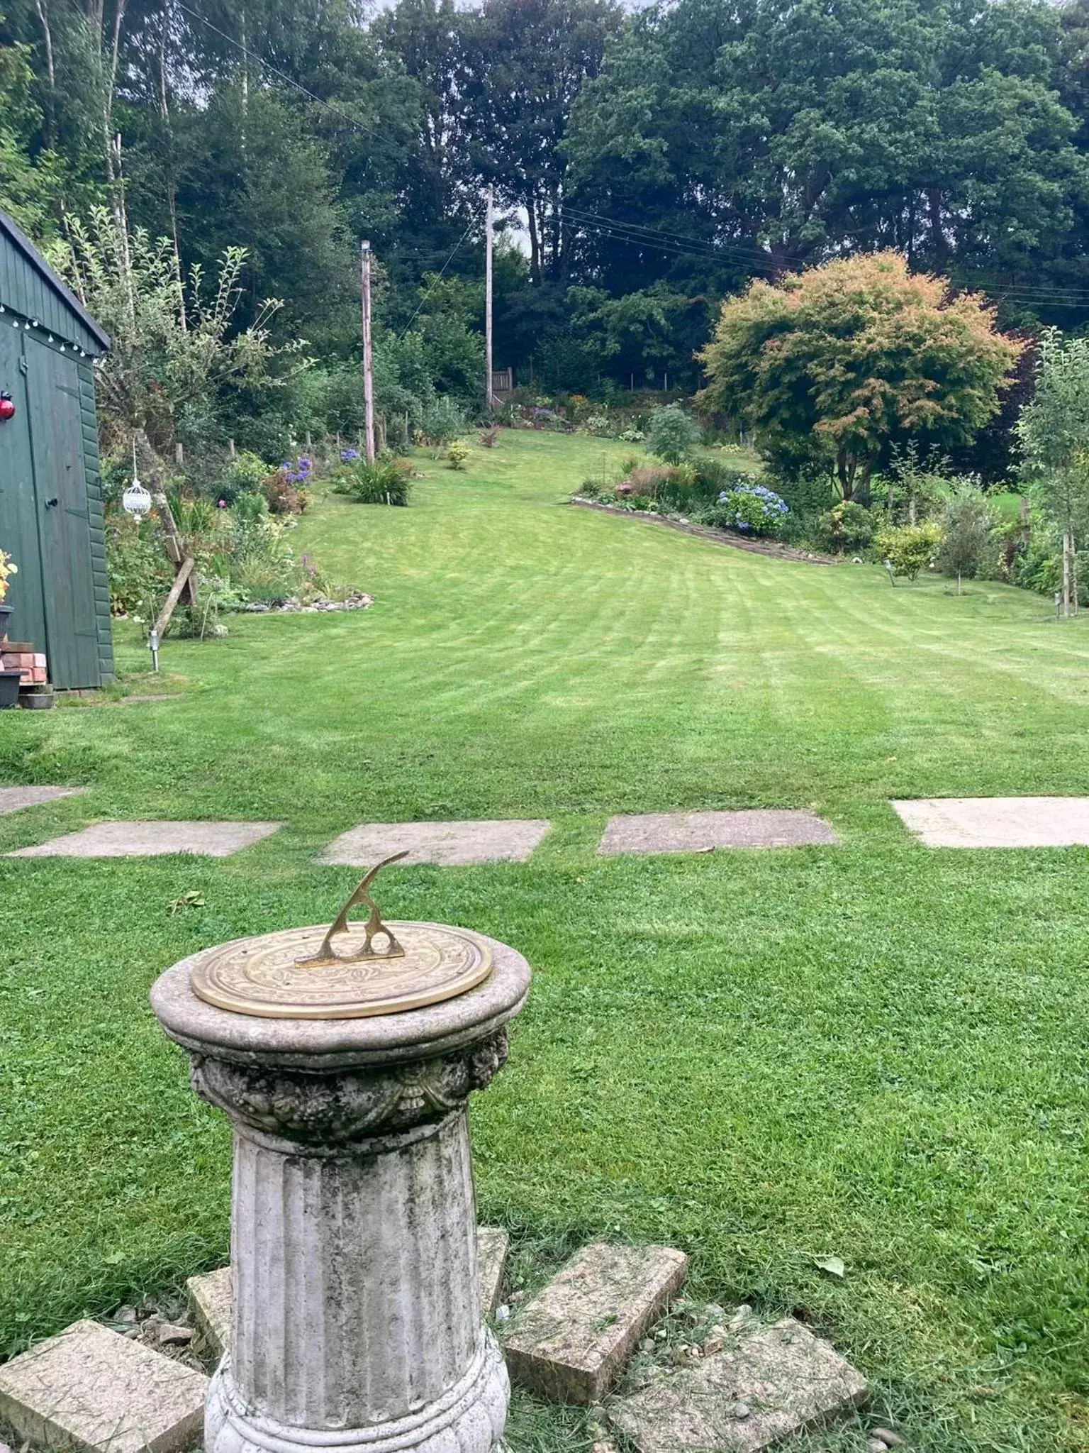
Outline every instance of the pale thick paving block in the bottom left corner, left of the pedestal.
<svg viewBox="0 0 1089 1453"><path fill-rule="evenodd" d="M174 1453L200 1436L208 1377L99 1322L76 1322L0 1367L0 1417L80 1453Z"/></svg>

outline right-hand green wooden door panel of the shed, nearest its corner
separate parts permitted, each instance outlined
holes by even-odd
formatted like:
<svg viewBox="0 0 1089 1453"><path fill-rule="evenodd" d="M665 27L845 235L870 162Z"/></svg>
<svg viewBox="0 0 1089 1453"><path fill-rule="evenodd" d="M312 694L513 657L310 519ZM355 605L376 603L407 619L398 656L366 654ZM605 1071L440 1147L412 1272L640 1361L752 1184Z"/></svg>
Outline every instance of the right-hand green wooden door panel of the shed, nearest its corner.
<svg viewBox="0 0 1089 1453"><path fill-rule="evenodd" d="M99 684L99 631L76 360L25 336L30 448L54 686Z"/></svg>

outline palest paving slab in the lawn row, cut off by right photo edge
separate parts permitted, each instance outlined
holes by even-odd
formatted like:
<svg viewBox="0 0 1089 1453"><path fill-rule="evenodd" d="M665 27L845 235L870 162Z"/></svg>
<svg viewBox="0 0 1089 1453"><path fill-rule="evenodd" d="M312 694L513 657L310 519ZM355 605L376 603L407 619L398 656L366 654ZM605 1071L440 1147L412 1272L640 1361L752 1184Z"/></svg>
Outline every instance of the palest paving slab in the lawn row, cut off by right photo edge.
<svg viewBox="0 0 1089 1453"><path fill-rule="evenodd" d="M1089 798L916 798L893 806L925 847L1089 846Z"/></svg>

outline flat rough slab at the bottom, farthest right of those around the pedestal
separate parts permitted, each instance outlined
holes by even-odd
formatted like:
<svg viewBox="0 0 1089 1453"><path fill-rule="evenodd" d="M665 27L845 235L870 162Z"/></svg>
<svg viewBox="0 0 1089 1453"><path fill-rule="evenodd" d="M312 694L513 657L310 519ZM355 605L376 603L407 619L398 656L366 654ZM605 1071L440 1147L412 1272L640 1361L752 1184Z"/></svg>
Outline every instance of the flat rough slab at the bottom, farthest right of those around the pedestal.
<svg viewBox="0 0 1089 1453"><path fill-rule="evenodd" d="M639 1453L756 1453L857 1407L861 1373L807 1327L784 1316L607 1405Z"/></svg>

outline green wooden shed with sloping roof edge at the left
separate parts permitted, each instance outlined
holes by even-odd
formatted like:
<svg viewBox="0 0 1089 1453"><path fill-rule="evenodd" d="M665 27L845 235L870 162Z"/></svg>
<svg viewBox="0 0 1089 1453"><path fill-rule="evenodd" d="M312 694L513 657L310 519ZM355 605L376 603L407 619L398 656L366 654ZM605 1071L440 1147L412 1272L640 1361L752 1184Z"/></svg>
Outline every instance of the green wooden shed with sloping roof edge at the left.
<svg viewBox="0 0 1089 1453"><path fill-rule="evenodd" d="M48 657L60 689L113 674L94 359L109 337L0 211L0 549L19 572L12 639ZM9 410L3 410L10 413Z"/></svg>

